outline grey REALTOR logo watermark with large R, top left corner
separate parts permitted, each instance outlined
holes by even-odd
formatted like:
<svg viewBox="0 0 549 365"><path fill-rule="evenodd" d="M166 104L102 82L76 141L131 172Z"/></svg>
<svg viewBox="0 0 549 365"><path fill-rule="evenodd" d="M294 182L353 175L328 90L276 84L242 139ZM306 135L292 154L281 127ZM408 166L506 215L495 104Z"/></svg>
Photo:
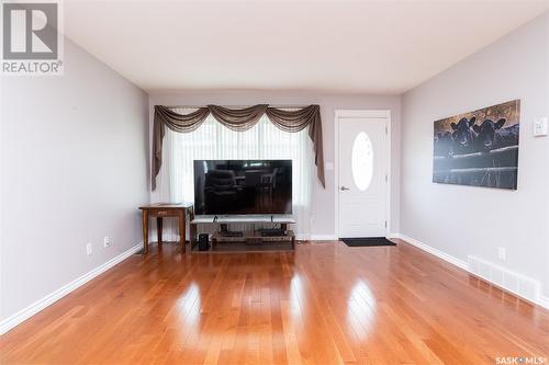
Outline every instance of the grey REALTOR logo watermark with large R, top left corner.
<svg viewBox="0 0 549 365"><path fill-rule="evenodd" d="M63 75L60 1L2 2L2 75Z"/></svg>

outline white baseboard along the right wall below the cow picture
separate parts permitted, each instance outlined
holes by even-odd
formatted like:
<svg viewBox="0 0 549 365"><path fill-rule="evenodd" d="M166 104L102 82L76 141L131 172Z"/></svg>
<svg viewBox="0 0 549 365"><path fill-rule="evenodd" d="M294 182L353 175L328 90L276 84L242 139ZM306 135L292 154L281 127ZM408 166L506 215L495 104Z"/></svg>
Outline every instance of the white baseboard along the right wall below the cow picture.
<svg viewBox="0 0 549 365"><path fill-rule="evenodd" d="M405 236L405 235L402 235L402 233L397 233L397 235L392 235L391 236L392 238L400 238L402 239L403 241L406 241L407 243L425 251L425 252L428 252L446 262L449 262L456 266L458 266L459 269L461 270L464 270L467 271L468 273L474 275L474 276L478 276L480 278L482 278L483 281L485 282L489 282L490 284L494 285L494 286L497 286L502 289L504 289L505 292L508 292L508 293L512 293L520 298L524 298L533 304L536 304L540 307L544 307L546 309L549 309L549 298L548 297L545 297L542 295L540 295L539 293L535 296L535 297L527 297L525 296L524 294L519 293L516 288L513 288L513 287L508 287L507 285L505 285L504 283L500 282L495 282L492 277L490 277L489 275L482 275L482 273L480 272L475 272L474 270L472 270L472 267L470 267L470 265L463 261L463 260L459 260L444 251L440 251L438 249L435 249L434 247L432 246L428 246L424 242L421 242L416 239L413 239L412 237L408 237L408 236ZM470 260L471 261L471 260ZM483 261L483 260L480 260L480 261ZM486 261L484 261L486 262ZM488 262L486 262L488 263ZM535 282L535 283L538 283L537 281L534 281L533 278L529 278L527 276L524 276L524 275L520 275L518 273L514 273L512 271L508 271L504 267L501 267L498 265L495 265L495 264L491 264L492 266L498 269L500 271L504 272L504 273L508 273L508 274L514 274L515 276L522 276L523 278L525 278L526 281L530 281L530 282Z"/></svg>

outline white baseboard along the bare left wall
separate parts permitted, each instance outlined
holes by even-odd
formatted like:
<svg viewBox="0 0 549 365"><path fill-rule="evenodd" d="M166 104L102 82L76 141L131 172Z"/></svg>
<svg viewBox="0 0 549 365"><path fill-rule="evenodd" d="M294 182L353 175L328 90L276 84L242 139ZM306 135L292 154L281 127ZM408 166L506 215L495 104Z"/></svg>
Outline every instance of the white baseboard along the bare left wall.
<svg viewBox="0 0 549 365"><path fill-rule="evenodd" d="M14 328L15 326L20 324L21 322L27 320L32 316L36 315L38 311L43 310L44 308L51 306L55 301L59 300L67 294L76 290L83 284L90 282L94 277L101 275L109 269L113 267L114 265L121 263L125 259L130 258L132 254L135 252L139 251L143 248L143 243L138 243L131 249L122 252L117 256L109 260L108 262L101 264L100 266L93 269L92 271L83 274L82 276L74 280L72 282L68 283L67 285L61 286L57 290L46 295L44 298L33 303L29 307L18 311L13 316L8 317L3 321L0 322L0 334L3 334Z"/></svg>

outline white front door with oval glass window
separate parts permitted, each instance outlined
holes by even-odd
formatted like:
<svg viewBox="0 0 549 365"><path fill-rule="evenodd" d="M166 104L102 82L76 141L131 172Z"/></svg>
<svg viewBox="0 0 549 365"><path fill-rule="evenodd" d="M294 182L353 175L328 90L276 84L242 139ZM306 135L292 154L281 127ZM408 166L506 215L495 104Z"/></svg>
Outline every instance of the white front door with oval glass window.
<svg viewBox="0 0 549 365"><path fill-rule="evenodd" d="M339 111L336 124L338 236L385 237L389 113Z"/></svg>

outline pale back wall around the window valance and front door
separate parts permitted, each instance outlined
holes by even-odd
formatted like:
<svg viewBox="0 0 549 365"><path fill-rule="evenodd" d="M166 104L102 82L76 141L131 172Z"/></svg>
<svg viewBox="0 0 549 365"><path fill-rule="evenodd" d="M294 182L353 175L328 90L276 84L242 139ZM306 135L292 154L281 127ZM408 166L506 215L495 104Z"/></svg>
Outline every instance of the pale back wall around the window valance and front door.
<svg viewBox="0 0 549 365"><path fill-rule="evenodd" d="M153 127L154 105L253 105L267 103L272 105L321 105L321 116L324 134L324 160L334 161L334 112L337 109L391 110L392 113L392 197L391 197L391 232L399 231L400 205L400 130L401 130L401 98L373 96L360 94L328 94L307 91L180 91L150 92L150 128ZM152 129L150 129L152 130ZM150 132L152 135L152 132ZM334 171L326 172L326 189L315 179L313 187L311 226L313 237L334 237ZM158 201L158 195L150 195L152 202Z"/></svg>

